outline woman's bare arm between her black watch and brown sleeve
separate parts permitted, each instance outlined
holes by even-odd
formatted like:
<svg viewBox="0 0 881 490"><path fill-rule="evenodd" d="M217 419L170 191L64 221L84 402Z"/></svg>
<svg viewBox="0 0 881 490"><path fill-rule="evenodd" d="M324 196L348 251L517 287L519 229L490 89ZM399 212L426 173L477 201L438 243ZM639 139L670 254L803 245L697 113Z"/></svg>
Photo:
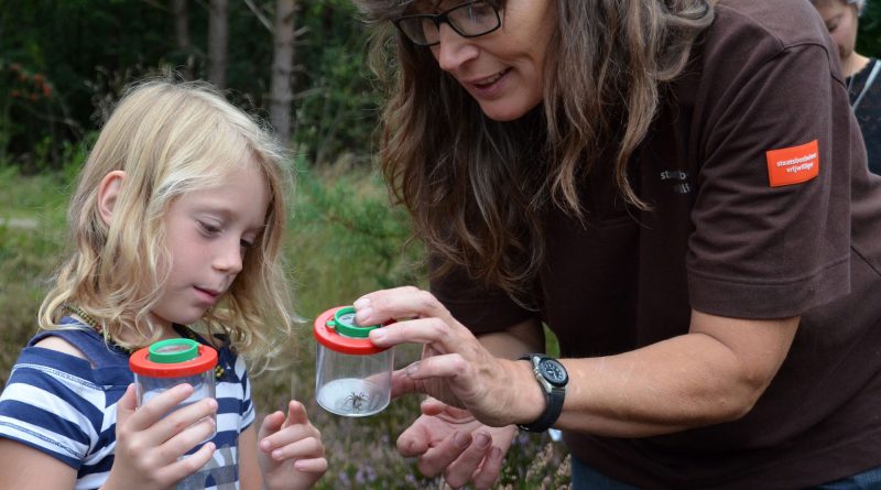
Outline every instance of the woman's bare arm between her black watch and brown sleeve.
<svg viewBox="0 0 881 490"><path fill-rule="evenodd" d="M644 437L740 418L776 374L797 326L798 317L746 320L693 312L686 335L618 356L565 359L570 379L555 426ZM535 388L532 403L544 407Z"/></svg>

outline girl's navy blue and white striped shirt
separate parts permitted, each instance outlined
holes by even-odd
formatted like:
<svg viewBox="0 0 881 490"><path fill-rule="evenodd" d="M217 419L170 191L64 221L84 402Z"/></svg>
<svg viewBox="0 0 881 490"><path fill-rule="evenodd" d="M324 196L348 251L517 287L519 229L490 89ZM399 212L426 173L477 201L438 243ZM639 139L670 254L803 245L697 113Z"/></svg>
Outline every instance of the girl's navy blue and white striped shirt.
<svg viewBox="0 0 881 490"><path fill-rule="evenodd" d="M64 338L88 360L34 347L46 336ZM224 373L216 384L211 439L217 449L208 465L181 482L185 488L239 487L238 437L254 421L251 386L244 362L228 346L218 350L218 366ZM41 333L22 350L0 394L0 437L69 465L77 470L75 489L96 489L113 465L117 402L132 382L128 355L90 328Z"/></svg>

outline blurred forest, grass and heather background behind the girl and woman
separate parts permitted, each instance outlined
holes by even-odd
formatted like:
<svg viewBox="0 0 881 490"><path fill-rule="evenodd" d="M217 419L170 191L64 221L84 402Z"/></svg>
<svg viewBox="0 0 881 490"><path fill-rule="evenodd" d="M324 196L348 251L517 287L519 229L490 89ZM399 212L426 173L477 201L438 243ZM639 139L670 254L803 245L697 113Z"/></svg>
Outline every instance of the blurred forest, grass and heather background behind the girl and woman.
<svg viewBox="0 0 881 490"><path fill-rule="evenodd" d="M381 94L367 42L349 0L0 0L0 384L35 330L76 173L127 84L205 79L287 142L297 181L286 255L304 322L283 369L253 380L258 407L292 396L306 404L330 462L319 488L443 488L394 449L418 398L360 420L314 402L312 318L425 281L423 251L407 241L407 218L389 206L373 165ZM870 1L858 51L878 55L879 46L881 2ZM395 364L418 353L399 348ZM562 443L521 434L498 487L564 488L567 473Z"/></svg>

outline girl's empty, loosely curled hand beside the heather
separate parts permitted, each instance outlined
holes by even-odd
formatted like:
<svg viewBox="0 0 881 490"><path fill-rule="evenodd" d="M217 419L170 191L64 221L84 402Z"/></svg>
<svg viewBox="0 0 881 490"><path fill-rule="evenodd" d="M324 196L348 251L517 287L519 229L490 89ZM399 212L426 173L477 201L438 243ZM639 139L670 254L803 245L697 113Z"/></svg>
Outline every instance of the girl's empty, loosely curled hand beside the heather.
<svg viewBox="0 0 881 490"><path fill-rule="evenodd" d="M267 489L306 489L327 471L322 434L300 402L287 403L287 417L281 411L267 415L259 440L258 460Z"/></svg>

